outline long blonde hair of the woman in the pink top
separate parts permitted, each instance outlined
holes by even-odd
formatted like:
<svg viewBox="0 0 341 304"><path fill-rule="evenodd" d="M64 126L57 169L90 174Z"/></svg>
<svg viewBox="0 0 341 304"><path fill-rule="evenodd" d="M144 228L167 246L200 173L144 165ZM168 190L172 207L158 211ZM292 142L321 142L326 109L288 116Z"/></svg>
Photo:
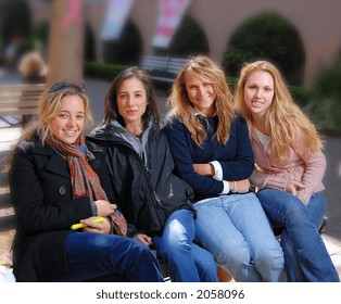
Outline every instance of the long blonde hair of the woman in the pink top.
<svg viewBox="0 0 341 304"><path fill-rule="evenodd" d="M255 61L244 64L235 91L236 106L244 119L247 119L249 128L253 118L250 109L244 103L244 86L248 77L254 71L267 72L274 79L274 99L265 114L265 127L269 130L275 156L280 161L285 161L289 145L296 153L300 153L302 149L310 149L312 152L319 151L323 148L323 142L314 124L300 106L294 103L278 68L267 61ZM296 143L295 129L298 127L303 131L305 138L304 147L299 147Z"/></svg>

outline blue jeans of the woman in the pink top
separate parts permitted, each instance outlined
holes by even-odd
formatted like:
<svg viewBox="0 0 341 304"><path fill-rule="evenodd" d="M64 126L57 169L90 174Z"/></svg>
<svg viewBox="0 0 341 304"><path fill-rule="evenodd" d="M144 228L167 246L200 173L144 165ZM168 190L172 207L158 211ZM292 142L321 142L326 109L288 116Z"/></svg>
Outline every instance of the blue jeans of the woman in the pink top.
<svg viewBox="0 0 341 304"><path fill-rule="evenodd" d="M326 211L324 193L313 194L307 206L291 193L275 189L261 190L257 198L271 224L283 227L280 243L285 253L288 280L339 281L318 232Z"/></svg>

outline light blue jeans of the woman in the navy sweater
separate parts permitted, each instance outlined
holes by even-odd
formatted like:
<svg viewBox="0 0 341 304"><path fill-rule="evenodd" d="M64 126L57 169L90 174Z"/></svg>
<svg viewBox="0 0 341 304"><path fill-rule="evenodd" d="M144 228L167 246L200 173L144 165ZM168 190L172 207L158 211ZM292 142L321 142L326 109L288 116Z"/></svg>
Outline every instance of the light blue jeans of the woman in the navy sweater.
<svg viewBox="0 0 341 304"><path fill-rule="evenodd" d="M285 281L282 250L254 193L194 204L198 240L236 281Z"/></svg>

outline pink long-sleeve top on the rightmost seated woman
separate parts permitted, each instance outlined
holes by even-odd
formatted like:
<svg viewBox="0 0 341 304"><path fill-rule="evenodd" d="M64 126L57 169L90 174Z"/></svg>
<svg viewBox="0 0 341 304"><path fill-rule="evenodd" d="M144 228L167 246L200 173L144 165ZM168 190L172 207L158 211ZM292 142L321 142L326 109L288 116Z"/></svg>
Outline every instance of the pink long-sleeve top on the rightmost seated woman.
<svg viewBox="0 0 341 304"><path fill-rule="evenodd" d="M275 159L270 141L262 145L256 130L251 128L252 147L256 167L250 177L250 181L258 189L273 188L286 191L288 180L301 181L305 185L304 189L298 191L298 197L306 205L313 193L325 189L323 177L326 170L326 157L321 151L313 153L307 149L303 132L296 128L296 138L299 147L303 147L298 154L289 147L287 160L280 162Z"/></svg>

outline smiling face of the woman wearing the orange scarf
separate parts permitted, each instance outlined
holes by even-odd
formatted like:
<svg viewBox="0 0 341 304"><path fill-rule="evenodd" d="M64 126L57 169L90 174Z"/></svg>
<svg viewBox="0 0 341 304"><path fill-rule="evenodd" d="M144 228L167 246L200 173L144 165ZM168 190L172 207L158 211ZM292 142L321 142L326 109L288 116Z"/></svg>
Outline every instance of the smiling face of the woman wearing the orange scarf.
<svg viewBox="0 0 341 304"><path fill-rule="evenodd" d="M65 96L55 117L51 119L50 129L59 140L74 144L85 126L84 101L77 94Z"/></svg>

